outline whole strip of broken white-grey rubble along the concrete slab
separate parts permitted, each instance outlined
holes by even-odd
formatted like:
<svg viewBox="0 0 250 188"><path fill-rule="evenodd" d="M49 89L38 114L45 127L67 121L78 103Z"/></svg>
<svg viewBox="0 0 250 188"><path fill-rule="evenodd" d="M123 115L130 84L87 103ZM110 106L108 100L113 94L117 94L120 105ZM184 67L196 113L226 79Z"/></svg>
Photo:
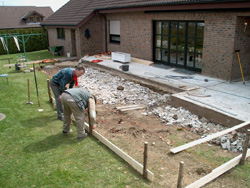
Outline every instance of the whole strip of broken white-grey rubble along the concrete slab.
<svg viewBox="0 0 250 188"><path fill-rule="evenodd" d="M202 138L224 130L223 126L211 123L206 118L200 119L197 115L182 107L166 106L166 103L170 100L170 94L159 94L140 84L135 84L103 71L87 68L86 73L79 78L79 84L82 88L96 95L103 104L145 105L147 109L143 115L154 114L166 126L181 126L201 135ZM210 142L221 145L223 149L237 152L242 151L245 138L245 133L234 132Z"/></svg>

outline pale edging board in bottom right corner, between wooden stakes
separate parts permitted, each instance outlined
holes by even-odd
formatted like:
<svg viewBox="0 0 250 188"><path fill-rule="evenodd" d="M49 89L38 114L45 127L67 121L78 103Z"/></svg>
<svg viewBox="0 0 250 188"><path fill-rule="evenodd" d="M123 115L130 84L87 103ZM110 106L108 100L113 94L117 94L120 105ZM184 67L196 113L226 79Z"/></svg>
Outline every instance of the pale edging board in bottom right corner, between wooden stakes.
<svg viewBox="0 0 250 188"><path fill-rule="evenodd" d="M232 160L224 163L223 165L221 165L218 168L214 169L208 175L206 175L206 176L200 178L199 180L195 181L194 183L186 186L186 188L199 188L199 187L209 183L210 181L214 180L218 176L224 174L228 170L230 170L233 167L235 167L236 165L238 165L240 163L241 156L242 156L242 154L240 154L237 157L233 158ZM248 149L246 157L249 157L249 156L250 156L250 149Z"/></svg>

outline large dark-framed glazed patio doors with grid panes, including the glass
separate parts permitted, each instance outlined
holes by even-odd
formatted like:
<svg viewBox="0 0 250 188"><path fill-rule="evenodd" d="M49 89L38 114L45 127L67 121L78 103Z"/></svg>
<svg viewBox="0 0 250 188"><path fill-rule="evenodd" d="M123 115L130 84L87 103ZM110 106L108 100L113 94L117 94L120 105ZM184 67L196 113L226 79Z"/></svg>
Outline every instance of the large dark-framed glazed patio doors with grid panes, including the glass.
<svg viewBox="0 0 250 188"><path fill-rule="evenodd" d="M155 21L154 61L201 71L204 22Z"/></svg>

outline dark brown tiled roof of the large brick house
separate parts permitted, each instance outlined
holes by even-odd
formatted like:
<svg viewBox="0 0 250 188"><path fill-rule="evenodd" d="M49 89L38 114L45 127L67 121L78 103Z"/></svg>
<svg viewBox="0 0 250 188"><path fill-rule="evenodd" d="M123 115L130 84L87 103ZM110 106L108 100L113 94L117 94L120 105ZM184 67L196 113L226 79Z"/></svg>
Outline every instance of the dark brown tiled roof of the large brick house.
<svg viewBox="0 0 250 188"><path fill-rule="evenodd" d="M250 8L249 0L70 0L43 26L80 27L100 13Z"/></svg>

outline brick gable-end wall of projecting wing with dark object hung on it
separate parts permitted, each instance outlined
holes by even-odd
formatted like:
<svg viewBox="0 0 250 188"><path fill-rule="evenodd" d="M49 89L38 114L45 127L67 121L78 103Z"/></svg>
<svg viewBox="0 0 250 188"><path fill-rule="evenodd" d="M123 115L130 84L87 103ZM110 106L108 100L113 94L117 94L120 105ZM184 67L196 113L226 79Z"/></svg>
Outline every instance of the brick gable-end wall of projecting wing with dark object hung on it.
<svg viewBox="0 0 250 188"><path fill-rule="evenodd" d="M89 30L90 37L85 37L85 30ZM78 40L78 39L77 39ZM94 55L105 51L105 21L102 16L95 16L80 28L81 52L80 56Z"/></svg>

